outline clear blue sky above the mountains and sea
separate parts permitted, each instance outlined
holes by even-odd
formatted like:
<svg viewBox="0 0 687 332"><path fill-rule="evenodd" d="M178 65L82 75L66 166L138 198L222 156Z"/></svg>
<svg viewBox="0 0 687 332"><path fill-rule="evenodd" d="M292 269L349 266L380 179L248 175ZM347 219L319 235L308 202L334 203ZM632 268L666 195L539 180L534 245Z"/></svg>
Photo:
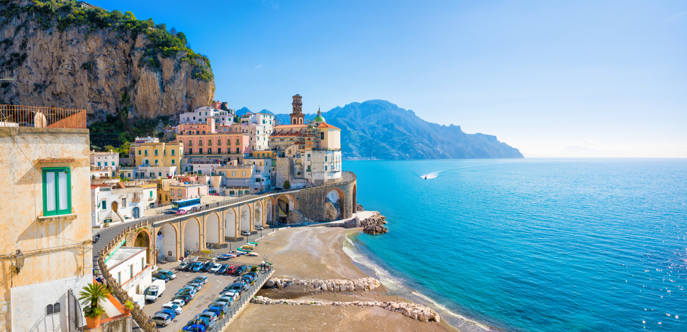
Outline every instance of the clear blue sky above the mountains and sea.
<svg viewBox="0 0 687 332"><path fill-rule="evenodd" d="M176 27L229 107L386 99L526 156L687 157L687 1L104 1Z"/></svg>

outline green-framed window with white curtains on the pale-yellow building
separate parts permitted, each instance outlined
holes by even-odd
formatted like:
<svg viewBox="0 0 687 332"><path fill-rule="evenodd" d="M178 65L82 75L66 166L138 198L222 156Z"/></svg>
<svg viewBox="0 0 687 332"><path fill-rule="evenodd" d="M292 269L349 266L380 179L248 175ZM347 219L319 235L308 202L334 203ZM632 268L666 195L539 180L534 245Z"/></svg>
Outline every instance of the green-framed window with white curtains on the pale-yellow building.
<svg viewBox="0 0 687 332"><path fill-rule="evenodd" d="M43 169L43 215L71 213L71 169L48 167Z"/></svg>

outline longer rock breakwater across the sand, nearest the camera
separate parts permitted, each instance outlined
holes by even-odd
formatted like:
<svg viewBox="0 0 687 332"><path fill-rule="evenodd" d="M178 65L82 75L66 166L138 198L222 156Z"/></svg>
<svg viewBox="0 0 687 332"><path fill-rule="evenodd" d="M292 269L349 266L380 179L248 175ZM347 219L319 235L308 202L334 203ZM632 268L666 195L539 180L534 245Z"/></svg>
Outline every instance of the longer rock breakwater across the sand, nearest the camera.
<svg viewBox="0 0 687 332"><path fill-rule="evenodd" d="M251 298L251 303L259 305L330 305L336 307L380 307L388 311L396 311L403 316L420 320L422 322L429 322L431 320L440 322L441 318L436 311L418 305L416 303L407 302L379 302L379 301L327 301L327 300L273 300L265 296L255 296Z"/></svg>

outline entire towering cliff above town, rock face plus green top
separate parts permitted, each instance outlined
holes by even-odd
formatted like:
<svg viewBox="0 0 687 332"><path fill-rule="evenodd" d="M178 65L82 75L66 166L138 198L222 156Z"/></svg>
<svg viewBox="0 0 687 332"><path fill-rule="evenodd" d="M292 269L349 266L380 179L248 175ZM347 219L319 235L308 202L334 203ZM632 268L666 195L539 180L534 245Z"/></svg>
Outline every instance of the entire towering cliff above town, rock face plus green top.
<svg viewBox="0 0 687 332"><path fill-rule="evenodd" d="M1 1L0 103L152 118L210 105L210 61L182 33L76 1ZM124 116L122 116L122 113Z"/></svg>

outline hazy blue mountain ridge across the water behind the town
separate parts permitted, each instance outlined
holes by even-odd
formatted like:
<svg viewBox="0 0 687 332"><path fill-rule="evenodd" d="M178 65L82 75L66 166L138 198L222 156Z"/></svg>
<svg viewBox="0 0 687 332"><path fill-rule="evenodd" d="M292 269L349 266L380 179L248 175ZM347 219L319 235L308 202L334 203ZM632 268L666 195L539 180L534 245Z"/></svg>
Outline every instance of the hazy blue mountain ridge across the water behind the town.
<svg viewBox="0 0 687 332"><path fill-rule="evenodd" d="M315 116L308 113L305 119L311 121ZM466 134L460 126L431 123L382 99L337 106L322 116L328 124L341 128L344 158L524 158L493 135ZM275 117L289 123L288 114Z"/></svg>

